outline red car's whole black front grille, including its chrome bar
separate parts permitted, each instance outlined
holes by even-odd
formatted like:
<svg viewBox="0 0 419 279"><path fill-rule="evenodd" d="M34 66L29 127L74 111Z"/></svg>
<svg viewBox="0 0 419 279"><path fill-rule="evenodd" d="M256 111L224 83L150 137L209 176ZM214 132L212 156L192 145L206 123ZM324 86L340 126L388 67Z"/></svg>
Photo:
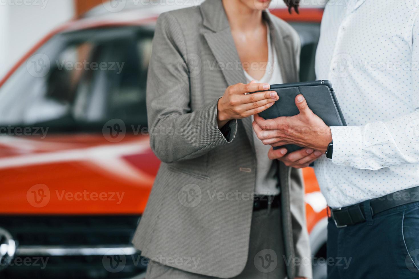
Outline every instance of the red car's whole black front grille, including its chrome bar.
<svg viewBox="0 0 419 279"><path fill-rule="evenodd" d="M147 261L131 244L139 220L138 215L2 215L0 227L12 235L17 250L0 278L128 278L140 274ZM126 258L123 269L114 272L104 264L108 252ZM25 259L30 264L22 264Z"/></svg>

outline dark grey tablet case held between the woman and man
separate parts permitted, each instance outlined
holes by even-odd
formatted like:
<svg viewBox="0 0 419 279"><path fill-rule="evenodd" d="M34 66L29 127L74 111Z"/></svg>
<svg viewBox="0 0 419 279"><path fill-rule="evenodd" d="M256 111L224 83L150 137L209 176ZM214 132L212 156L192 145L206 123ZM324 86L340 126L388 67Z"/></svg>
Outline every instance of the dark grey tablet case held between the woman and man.
<svg viewBox="0 0 419 279"><path fill-rule="evenodd" d="M295 97L302 94L307 101L308 107L318 115L328 126L346 126L345 118L339 107L334 94L332 84L328 80L317 80L314 82L295 82L271 85L271 91L276 91L279 96L272 107L259 113L265 119L277 118L279 116L293 116L299 114L295 105ZM302 147L287 144L276 146L274 149L287 148L288 152L302 149Z"/></svg>

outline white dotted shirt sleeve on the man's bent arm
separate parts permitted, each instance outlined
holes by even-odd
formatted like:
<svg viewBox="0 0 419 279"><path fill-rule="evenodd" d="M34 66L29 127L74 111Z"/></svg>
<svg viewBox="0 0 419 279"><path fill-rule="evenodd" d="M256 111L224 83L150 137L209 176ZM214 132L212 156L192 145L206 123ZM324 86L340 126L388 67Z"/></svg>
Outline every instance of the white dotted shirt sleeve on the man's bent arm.
<svg viewBox="0 0 419 279"><path fill-rule="evenodd" d="M411 102L414 112L364 126L331 127L334 164L377 170L419 163L418 21L414 21L412 28L411 71L414 92Z"/></svg>

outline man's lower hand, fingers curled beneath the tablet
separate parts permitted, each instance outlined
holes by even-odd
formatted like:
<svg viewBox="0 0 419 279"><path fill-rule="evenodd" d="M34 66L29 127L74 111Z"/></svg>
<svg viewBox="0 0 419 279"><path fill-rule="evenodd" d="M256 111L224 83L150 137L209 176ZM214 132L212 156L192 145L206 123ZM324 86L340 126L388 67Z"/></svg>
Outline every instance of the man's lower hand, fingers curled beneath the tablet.
<svg viewBox="0 0 419 279"><path fill-rule="evenodd" d="M287 148L271 149L268 157L271 160L278 159L284 162L285 166L292 166L295 169L305 168L318 159L323 153L310 148L303 148L287 154Z"/></svg>

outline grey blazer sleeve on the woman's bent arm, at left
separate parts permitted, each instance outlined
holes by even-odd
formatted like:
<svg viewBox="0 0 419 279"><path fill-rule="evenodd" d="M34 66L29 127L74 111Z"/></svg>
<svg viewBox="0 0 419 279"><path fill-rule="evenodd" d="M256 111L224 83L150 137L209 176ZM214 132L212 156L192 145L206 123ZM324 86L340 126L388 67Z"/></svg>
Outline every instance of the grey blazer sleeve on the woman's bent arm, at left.
<svg viewBox="0 0 419 279"><path fill-rule="evenodd" d="M192 65L192 62L191 62ZM233 141L237 120L226 138L217 126L218 99L191 110L189 65L181 26L173 15L159 16L147 76L150 146L163 162L193 159Z"/></svg>

